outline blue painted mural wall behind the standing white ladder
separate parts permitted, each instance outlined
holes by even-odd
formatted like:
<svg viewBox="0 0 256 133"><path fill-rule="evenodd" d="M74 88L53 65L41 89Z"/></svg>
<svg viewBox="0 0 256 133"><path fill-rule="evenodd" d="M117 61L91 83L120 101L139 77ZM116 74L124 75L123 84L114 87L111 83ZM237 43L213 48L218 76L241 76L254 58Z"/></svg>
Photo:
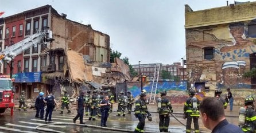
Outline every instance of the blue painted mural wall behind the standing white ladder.
<svg viewBox="0 0 256 133"><path fill-rule="evenodd" d="M152 82L143 83L143 89L146 89L148 98L150 98ZM172 104L184 104L184 101L188 97L187 81L158 82L156 97L160 97L160 92L164 90L167 92L167 97L170 99ZM139 96L141 93L141 83L127 82L127 91L131 91L134 97Z"/></svg>

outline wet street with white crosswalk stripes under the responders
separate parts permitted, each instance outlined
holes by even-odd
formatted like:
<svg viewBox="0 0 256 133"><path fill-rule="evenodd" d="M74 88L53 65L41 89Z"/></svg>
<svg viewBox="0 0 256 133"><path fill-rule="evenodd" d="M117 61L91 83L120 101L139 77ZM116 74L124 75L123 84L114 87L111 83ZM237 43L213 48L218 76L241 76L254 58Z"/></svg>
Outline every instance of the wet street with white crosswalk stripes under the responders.
<svg viewBox="0 0 256 133"><path fill-rule="evenodd" d="M158 114L154 112L156 107L149 105L149 111L152 112L152 122L149 122L146 119L146 124L144 130L146 132L159 132L158 130ZM183 114L183 105L173 105L174 116L180 120L181 123L186 123L182 118ZM114 109L115 110L115 109ZM45 132L36 130L37 126L41 126L42 130L50 130L52 132L133 132L134 128L138 124L138 119L135 118L132 114L126 114L123 116L116 116L117 112L114 111L110 114L107 121L107 128L100 127L100 118L96 118L95 121L88 120L88 116L84 116L84 122L86 126L78 126L79 120L76 121L77 125L73 125L72 119L76 115L76 111L72 110L72 114L66 114L67 111L64 111L63 115L59 114L59 111L53 111L52 120L53 122L48 123L44 120L34 118L35 110L29 109L28 111L14 111L14 116L10 116L9 111L6 111L5 114L0 116L0 132ZM226 118L228 122L237 124L238 115L234 112L226 112ZM170 117L170 132L185 132L185 126L174 119L173 116ZM64 123L64 124L61 124ZM55 125L56 124L56 125ZM199 119L200 131L201 132L210 132L207 130L201 123ZM193 123L192 123L193 128ZM115 131L117 130L117 131Z"/></svg>

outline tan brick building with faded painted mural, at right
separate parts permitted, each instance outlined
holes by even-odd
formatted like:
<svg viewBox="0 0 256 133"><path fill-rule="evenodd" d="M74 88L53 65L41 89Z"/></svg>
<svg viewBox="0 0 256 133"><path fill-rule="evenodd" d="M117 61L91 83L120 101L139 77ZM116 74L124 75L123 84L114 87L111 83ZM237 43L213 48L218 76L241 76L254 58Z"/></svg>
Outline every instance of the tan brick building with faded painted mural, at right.
<svg viewBox="0 0 256 133"><path fill-rule="evenodd" d="M202 91L210 91L207 95L213 95L216 88L230 88L235 104L253 94L256 80L243 78L243 73L256 63L255 17L256 2L199 11L185 5L189 86L201 84Z"/></svg>

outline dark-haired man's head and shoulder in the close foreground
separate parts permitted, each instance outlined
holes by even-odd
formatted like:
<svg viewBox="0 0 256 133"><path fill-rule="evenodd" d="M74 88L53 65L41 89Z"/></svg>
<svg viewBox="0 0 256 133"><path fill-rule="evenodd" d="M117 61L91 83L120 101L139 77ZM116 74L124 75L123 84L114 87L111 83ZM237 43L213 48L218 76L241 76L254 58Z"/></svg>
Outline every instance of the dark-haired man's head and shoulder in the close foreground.
<svg viewBox="0 0 256 133"><path fill-rule="evenodd" d="M212 133L243 133L241 128L227 122L223 103L216 97L205 97L199 108L204 126Z"/></svg>

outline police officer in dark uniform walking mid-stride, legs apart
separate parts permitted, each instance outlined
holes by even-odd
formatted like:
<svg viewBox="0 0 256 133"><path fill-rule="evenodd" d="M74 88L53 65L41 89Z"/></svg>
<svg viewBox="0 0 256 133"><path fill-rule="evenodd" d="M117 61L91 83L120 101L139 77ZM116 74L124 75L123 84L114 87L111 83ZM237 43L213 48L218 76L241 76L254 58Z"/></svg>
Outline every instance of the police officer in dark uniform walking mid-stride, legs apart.
<svg viewBox="0 0 256 133"><path fill-rule="evenodd" d="M77 115L73 119L73 123L76 123L76 120L79 118L80 124L85 124L83 122L83 117L84 117L84 92L80 92L80 96L77 97L76 99L76 110L77 110Z"/></svg>

